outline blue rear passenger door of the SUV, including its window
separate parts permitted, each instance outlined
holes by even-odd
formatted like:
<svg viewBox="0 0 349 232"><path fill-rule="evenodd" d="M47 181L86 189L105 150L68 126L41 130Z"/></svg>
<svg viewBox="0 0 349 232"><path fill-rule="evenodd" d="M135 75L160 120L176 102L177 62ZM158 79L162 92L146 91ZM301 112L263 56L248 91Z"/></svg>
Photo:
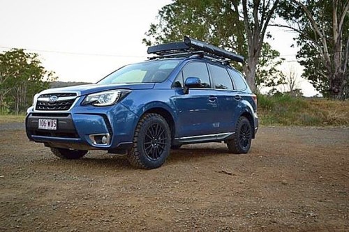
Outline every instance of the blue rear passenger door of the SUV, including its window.
<svg viewBox="0 0 349 232"><path fill-rule="evenodd" d="M209 73L214 87L214 95L218 101L217 133L232 132L237 118L236 109L240 100L239 95L234 91L232 79L224 66L209 63Z"/></svg>

